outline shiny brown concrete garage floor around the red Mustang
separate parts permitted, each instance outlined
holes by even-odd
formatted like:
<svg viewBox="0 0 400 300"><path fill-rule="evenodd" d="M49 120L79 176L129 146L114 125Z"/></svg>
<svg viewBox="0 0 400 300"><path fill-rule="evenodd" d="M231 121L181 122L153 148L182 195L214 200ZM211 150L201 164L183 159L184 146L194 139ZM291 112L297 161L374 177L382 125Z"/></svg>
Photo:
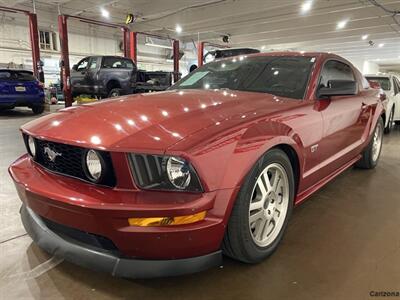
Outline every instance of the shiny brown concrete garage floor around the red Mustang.
<svg viewBox="0 0 400 300"><path fill-rule="evenodd" d="M0 299L368 299L400 291L400 127L375 170L351 169L295 209L278 251L259 265L124 280L49 257L19 220L7 166L25 152L31 112L0 112Z"/></svg>

